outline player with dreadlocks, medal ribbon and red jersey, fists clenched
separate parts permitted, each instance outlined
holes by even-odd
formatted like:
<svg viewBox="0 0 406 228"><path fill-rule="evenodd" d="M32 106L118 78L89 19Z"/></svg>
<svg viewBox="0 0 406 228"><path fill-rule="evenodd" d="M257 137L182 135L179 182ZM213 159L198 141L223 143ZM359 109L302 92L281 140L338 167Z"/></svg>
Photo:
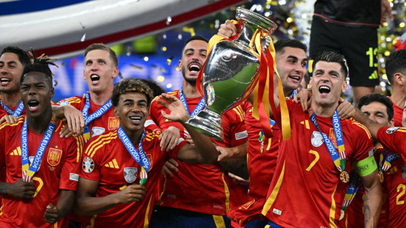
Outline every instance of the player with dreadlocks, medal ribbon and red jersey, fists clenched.
<svg viewBox="0 0 406 228"><path fill-rule="evenodd" d="M50 58L26 65L20 94L27 116L0 125L0 167L6 164L0 227L62 227L74 205L84 139L60 138L63 122L52 113ZM50 223L50 224L49 224Z"/></svg>

